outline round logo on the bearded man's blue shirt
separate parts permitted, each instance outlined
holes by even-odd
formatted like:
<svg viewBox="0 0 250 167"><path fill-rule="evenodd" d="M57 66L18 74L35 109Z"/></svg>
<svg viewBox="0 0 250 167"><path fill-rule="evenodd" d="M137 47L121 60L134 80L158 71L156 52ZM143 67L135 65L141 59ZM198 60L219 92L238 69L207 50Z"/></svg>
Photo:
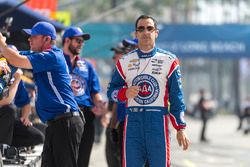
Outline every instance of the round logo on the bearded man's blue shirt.
<svg viewBox="0 0 250 167"><path fill-rule="evenodd" d="M71 74L72 80L71 80L71 87L73 89L75 96L82 96L85 94L86 90L86 81L79 77L78 75Z"/></svg>

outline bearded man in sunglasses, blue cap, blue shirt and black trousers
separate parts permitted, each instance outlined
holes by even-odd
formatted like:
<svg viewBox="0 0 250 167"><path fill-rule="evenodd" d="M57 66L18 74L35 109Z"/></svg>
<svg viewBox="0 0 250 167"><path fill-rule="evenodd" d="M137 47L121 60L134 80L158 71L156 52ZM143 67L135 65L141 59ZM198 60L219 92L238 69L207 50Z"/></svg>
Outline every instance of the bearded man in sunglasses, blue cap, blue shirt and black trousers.
<svg viewBox="0 0 250 167"><path fill-rule="evenodd" d="M105 111L98 76L91 63L79 56L84 42L89 39L90 35L84 33L79 27L67 28L62 39L64 56L72 77L71 86L77 104L86 119L79 149L79 167L89 165L95 135L95 115Z"/></svg>

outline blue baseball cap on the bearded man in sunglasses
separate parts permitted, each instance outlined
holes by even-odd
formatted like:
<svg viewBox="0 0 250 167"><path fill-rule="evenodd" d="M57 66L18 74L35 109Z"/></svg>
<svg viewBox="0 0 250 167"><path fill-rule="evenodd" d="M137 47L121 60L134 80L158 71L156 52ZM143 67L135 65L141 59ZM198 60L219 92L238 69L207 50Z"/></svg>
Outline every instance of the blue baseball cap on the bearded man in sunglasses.
<svg viewBox="0 0 250 167"><path fill-rule="evenodd" d="M69 28L66 28L63 33L63 40L65 38L77 37L77 36L82 36L84 40L90 39L90 35L87 33L84 33L80 27L69 27Z"/></svg>

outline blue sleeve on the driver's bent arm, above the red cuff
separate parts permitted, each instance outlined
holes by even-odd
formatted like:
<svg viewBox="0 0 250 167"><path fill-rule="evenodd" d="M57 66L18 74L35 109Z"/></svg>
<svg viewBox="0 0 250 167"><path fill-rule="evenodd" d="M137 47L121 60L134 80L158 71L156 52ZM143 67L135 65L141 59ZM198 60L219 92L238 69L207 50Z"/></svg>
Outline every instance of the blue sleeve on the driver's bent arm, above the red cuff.
<svg viewBox="0 0 250 167"><path fill-rule="evenodd" d="M121 77L120 73L118 72L117 68L115 69L111 82L109 83L107 96L109 100L118 102L118 91L126 85L124 79Z"/></svg>

